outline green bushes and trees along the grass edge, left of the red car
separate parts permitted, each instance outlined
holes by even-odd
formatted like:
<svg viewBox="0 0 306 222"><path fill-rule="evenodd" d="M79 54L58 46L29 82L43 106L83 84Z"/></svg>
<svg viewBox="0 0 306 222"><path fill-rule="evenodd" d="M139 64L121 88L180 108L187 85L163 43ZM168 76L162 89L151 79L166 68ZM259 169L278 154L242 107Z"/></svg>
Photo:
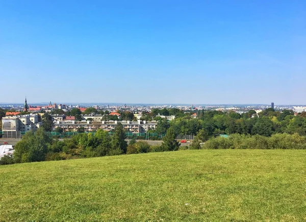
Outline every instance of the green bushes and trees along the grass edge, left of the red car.
<svg viewBox="0 0 306 222"><path fill-rule="evenodd" d="M115 128L114 134L99 129L93 133L80 133L70 139L58 140L49 137L43 128L27 132L15 145L14 156L0 159L0 165L24 162L66 160L113 156L121 154L137 154L179 150L179 142L175 140L174 131L170 128L161 145L150 146L145 141L126 141L125 131L121 124Z"/></svg>

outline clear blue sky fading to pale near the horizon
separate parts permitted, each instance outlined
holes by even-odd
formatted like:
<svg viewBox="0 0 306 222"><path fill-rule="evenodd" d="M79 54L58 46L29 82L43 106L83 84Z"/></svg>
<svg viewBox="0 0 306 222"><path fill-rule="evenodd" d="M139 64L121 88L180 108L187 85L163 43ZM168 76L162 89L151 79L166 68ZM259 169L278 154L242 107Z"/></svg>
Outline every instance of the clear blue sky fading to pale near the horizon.
<svg viewBox="0 0 306 222"><path fill-rule="evenodd" d="M0 0L0 103L306 104L305 71L305 0Z"/></svg>

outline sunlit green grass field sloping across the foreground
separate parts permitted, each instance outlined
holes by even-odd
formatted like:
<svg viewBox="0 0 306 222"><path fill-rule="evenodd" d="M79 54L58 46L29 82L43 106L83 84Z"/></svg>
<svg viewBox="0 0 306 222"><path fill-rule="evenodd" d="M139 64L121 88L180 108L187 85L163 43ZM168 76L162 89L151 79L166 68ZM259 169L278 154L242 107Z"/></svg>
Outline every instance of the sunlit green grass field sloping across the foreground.
<svg viewBox="0 0 306 222"><path fill-rule="evenodd" d="M306 151L198 150L0 166L0 221L305 221Z"/></svg>

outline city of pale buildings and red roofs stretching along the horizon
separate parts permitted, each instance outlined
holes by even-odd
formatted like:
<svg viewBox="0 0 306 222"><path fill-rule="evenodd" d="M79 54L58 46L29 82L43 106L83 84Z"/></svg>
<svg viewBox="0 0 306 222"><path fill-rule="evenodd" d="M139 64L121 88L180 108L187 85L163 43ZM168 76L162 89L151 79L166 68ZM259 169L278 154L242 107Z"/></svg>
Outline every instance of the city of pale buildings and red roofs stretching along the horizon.
<svg viewBox="0 0 306 222"><path fill-rule="evenodd" d="M159 121L158 118L166 118L168 121L175 119L175 115L153 115L150 118L144 118L144 115L150 114L153 109L179 109L184 113L189 113L196 117L202 110L236 112L238 114L247 113L254 110L256 114L267 108L275 111L292 110L295 115L306 111L306 106L288 106L288 105L144 105L144 104L28 104L25 98L24 104L1 104L0 108L7 110L2 117L2 132L6 138L21 138L25 132L36 130L43 126L44 114L50 114L52 118L53 132L96 132L102 129L108 132L115 130L120 122L127 133L139 134L155 131ZM71 110L78 109L79 116L69 114ZM120 112L129 112L132 117L121 119ZM61 130L59 130L61 129Z"/></svg>

